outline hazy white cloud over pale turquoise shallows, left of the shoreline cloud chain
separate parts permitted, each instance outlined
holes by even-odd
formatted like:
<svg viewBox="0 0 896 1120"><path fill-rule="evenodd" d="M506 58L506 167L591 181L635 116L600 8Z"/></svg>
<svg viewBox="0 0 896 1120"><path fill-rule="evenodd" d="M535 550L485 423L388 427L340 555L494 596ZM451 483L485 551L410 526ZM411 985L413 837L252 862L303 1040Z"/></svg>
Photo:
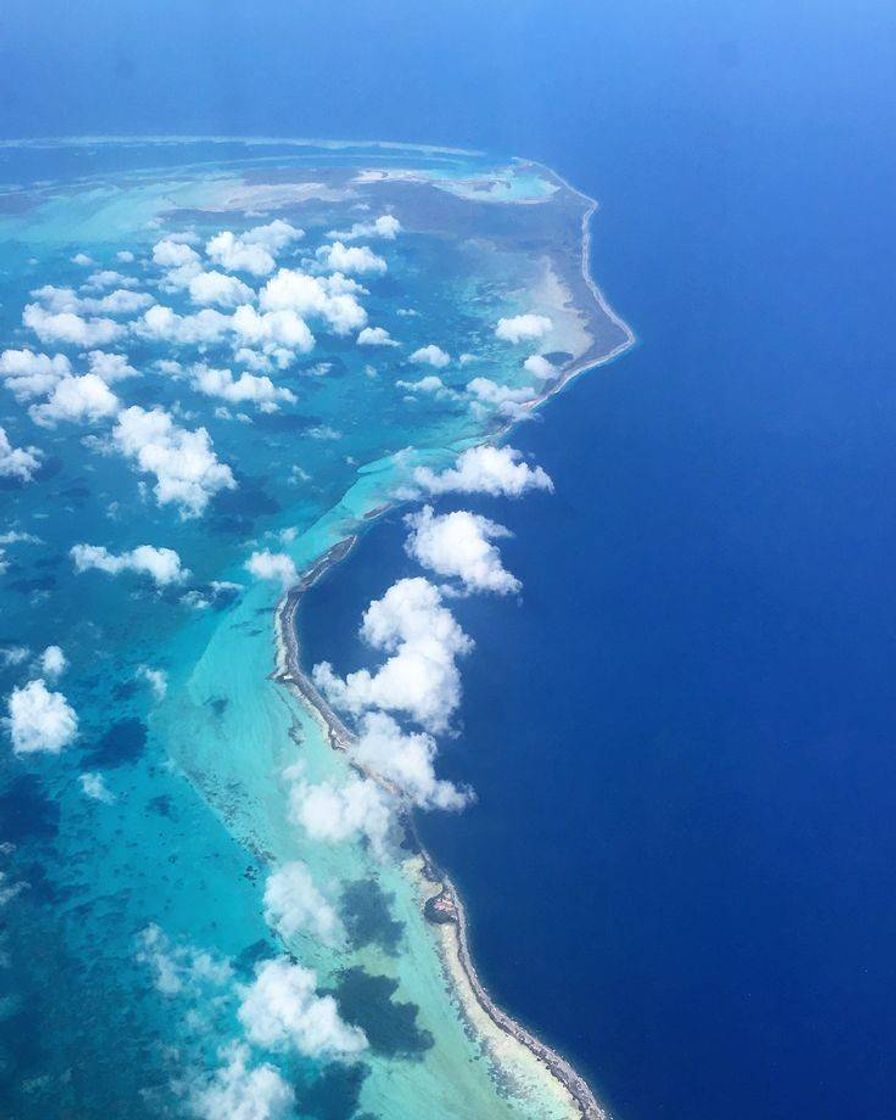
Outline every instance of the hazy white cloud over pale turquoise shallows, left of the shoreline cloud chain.
<svg viewBox="0 0 896 1120"><path fill-rule="evenodd" d="M389 799L370 778L352 776L342 785L299 780L289 800L292 819L312 840L338 843L363 836L377 855L385 851L392 812Z"/></svg>

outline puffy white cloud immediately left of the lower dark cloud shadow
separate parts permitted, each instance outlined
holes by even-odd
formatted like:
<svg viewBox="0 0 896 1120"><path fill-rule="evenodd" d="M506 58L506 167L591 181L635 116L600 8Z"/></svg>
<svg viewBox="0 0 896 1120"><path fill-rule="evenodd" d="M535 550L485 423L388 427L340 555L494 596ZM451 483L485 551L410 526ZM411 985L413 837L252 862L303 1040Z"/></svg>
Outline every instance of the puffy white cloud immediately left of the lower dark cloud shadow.
<svg viewBox="0 0 896 1120"><path fill-rule="evenodd" d="M333 996L318 996L316 988L317 976L286 956L260 964L237 1011L250 1042L328 1060L366 1049L364 1032L344 1023Z"/></svg>

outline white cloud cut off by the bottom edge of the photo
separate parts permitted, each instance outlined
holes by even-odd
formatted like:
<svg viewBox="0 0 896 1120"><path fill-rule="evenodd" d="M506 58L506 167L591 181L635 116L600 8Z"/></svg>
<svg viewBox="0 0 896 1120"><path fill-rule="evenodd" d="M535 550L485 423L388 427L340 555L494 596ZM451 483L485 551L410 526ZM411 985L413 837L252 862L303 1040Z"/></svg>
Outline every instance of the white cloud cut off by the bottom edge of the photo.
<svg viewBox="0 0 896 1120"><path fill-rule="evenodd" d="M248 1046L221 1052L225 1064L211 1082L197 1086L190 1108L198 1120L287 1120L295 1093L268 1062L250 1064Z"/></svg>

